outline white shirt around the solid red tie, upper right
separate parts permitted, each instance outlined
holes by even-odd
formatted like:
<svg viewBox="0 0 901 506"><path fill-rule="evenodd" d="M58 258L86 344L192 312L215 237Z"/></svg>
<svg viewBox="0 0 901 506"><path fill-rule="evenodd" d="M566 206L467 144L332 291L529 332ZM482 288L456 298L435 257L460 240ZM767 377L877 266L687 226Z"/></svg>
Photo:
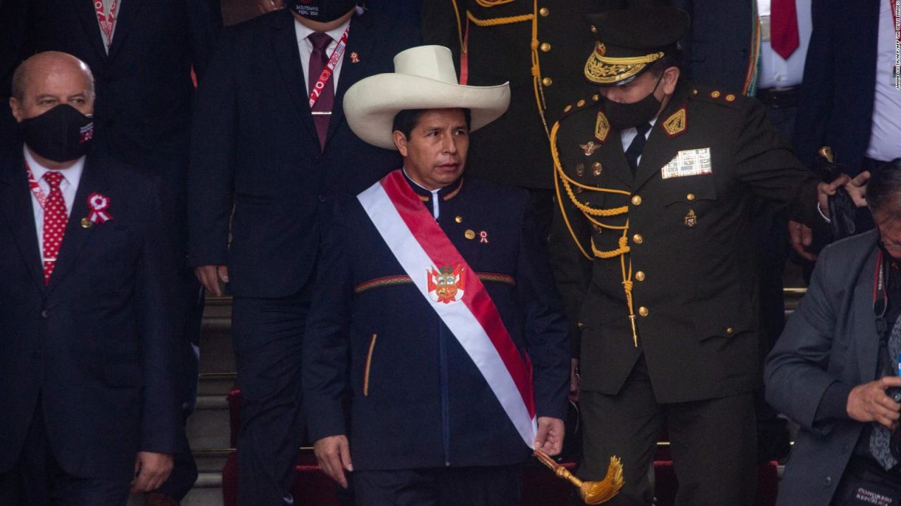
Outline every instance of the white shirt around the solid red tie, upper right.
<svg viewBox="0 0 901 506"><path fill-rule="evenodd" d="M785 88L801 84L804 78L804 62L807 57L807 46L810 44L810 33L814 30L811 15L812 0L796 0L798 46L795 52L783 59L773 50L770 41L760 41L760 89ZM769 17L771 0L757 0L757 14L761 18Z"/></svg>

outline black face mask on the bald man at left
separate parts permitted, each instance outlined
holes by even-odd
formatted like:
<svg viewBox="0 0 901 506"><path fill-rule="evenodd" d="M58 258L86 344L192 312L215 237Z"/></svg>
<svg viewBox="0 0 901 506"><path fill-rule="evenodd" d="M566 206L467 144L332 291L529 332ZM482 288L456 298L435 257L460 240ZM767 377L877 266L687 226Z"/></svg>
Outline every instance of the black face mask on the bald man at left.
<svg viewBox="0 0 901 506"><path fill-rule="evenodd" d="M29 149L55 162L83 157L87 141L94 137L94 121L68 104L59 104L19 125Z"/></svg>

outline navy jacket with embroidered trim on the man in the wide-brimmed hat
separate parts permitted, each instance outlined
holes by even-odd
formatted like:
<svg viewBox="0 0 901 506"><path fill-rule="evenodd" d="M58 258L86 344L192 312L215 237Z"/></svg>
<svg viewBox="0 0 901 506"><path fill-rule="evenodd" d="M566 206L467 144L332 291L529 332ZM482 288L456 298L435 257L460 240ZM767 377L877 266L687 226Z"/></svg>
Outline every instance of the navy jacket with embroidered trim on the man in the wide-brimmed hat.
<svg viewBox="0 0 901 506"><path fill-rule="evenodd" d="M528 194L461 179L438 198L441 230L532 360L537 415L564 418L568 327ZM423 205L432 211L431 200ZM349 433L355 469L506 465L528 455L472 359L405 278L356 199L341 204L325 240L304 347L310 438Z"/></svg>

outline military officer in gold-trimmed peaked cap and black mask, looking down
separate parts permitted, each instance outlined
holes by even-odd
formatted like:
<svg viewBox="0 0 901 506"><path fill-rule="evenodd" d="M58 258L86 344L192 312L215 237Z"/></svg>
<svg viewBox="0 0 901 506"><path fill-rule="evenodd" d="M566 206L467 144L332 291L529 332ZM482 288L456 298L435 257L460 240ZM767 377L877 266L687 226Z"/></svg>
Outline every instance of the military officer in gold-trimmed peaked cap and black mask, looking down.
<svg viewBox="0 0 901 506"><path fill-rule="evenodd" d="M751 504L752 390L760 384L749 203L798 221L841 181L818 183L760 104L679 78L688 14L644 7L588 16L596 94L552 127L558 285L578 323L584 461L623 457L611 504L651 504L664 420L680 506ZM578 340L578 339L577 339ZM575 377L575 375L574 375Z"/></svg>

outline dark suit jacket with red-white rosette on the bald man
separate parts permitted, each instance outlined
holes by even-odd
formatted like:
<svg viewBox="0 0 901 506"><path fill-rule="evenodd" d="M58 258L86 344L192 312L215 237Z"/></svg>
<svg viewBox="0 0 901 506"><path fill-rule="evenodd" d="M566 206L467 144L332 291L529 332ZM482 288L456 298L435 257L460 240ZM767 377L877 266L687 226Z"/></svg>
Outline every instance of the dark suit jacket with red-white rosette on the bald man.
<svg viewBox="0 0 901 506"><path fill-rule="evenodd" d="M87 158L58 264L44 285L21 148L0 157L0 474L18 460L38 402L59 465L128 480L138 450L176 449L171 248L156 178ZM90 228L87 197L112 221Z"/></svg>

